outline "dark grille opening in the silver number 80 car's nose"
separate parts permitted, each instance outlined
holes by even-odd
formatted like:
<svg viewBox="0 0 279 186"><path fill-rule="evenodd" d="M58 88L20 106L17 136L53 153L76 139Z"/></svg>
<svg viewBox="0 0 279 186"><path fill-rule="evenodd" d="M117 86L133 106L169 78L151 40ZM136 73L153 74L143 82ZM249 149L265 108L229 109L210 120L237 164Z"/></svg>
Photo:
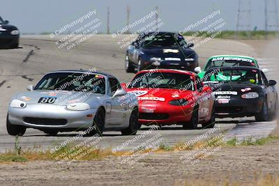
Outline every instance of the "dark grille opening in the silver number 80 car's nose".
<svg viewBox="0 0 279 186"><path fill-rule="evenodd" d="M31 123L35 125L66 125L66 119L52 119L52 118L23 118L25 123Z"/></svg>

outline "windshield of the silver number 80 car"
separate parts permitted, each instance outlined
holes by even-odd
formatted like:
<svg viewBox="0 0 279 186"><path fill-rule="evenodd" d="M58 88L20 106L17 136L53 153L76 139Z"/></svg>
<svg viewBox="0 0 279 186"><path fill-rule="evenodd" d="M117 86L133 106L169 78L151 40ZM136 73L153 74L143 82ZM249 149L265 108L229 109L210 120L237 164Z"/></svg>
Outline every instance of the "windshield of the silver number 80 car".
<svg viewBox="0 0 279 186"><path fill-rule="evenodd" d="M34 90L83 91L105 94L105 77L86 73L50 73L38 82Z"/></svg>

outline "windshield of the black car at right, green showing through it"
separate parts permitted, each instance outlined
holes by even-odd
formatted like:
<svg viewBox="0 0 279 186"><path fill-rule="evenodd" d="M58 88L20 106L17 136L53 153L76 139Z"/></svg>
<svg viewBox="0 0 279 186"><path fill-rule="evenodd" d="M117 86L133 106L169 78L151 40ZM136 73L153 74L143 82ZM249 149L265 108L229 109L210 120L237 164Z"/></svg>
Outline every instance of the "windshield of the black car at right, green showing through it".
<svg viewBox="0 0 279 186"><path fill-rule="evenodd" d="M259 70L255 69L223 69L215 68L206 71L204 78L207 82L223 82L223 83L238 83L238 84L262 84Z"/></svg>

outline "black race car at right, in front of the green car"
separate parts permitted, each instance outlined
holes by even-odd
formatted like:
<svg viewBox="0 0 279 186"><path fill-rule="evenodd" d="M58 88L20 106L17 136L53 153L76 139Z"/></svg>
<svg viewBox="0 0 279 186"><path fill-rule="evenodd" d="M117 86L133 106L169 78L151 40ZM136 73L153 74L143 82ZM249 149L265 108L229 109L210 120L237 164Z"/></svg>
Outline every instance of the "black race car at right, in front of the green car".
<svg viewBox="0 0 279 186"><path fill-rule="evenodd" d="M269 121L276 116L276 81L268 81L258 68L210 68L202 80L213 88L218 118L255 116L256 121Z"/></svg>

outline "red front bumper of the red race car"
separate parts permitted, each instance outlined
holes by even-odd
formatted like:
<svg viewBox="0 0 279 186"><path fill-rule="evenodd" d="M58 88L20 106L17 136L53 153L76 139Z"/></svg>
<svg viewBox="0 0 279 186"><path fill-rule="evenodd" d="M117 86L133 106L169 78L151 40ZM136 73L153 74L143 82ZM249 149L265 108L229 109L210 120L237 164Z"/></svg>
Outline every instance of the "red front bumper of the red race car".
<svg viewBox="0 0 279 186"><path fill-rule="evenodd" d="M172 125L187 123L192 117L193 107L172 105L158 105L156 107L140 104L139 123L144 125Z"/></svg>

